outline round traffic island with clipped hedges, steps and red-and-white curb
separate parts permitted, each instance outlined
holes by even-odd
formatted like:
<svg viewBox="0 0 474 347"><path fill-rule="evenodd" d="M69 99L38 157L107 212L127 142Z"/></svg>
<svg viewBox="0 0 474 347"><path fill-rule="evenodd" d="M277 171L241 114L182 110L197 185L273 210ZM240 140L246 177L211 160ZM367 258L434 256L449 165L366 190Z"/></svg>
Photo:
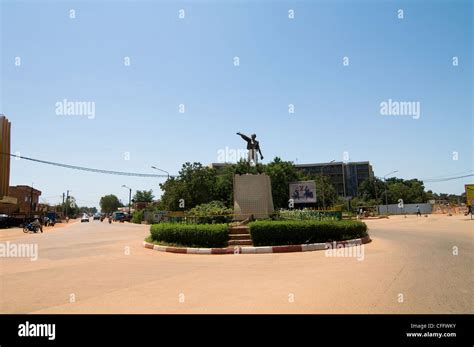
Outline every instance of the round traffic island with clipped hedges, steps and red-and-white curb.
<svg viewBox="0 0 474 347"><path fill-rule="evenodd" d="M145 248L181 254L262 254L327 250L371 242L360 221L272 221L248 225L160 223Z"/></svg>

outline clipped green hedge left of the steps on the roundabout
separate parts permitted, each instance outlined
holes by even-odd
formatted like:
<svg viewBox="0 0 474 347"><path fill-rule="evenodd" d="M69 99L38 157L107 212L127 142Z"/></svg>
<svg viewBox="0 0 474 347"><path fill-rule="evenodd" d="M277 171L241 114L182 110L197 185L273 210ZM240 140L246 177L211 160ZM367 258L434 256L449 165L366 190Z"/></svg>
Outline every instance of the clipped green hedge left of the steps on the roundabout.
<svg viewBox="0 0 474 347"><path fill-rule="evenodd" d="M153 241L184 247L226 247L229 239L226 224L159 223L150 232Z"/></svg>

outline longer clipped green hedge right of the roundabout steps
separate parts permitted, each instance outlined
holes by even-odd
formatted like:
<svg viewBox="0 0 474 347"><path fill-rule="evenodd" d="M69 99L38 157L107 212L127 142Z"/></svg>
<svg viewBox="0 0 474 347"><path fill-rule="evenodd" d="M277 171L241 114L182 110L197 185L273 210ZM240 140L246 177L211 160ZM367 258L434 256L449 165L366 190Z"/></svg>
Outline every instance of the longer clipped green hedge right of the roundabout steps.
<svg viewBox="0 0 474 347"><path fill-rule="evenodd" d="M367 236L359 221L256 221L249 224L254 246L298 245Z"/></svg>

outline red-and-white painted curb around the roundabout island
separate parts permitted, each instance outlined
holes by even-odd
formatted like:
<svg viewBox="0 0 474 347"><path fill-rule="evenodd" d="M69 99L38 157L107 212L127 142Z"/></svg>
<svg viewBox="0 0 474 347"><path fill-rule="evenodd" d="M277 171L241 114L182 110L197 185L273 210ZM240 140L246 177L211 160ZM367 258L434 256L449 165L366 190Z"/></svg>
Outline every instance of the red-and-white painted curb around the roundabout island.
<svg viewBox="0 0 474 347"><path fill-rule="evenodd" d="M345 248L363 245L372 240L370 236L361 239L352 239L346 241L333 241L325 243L308 243L303 245L288 246L262 246L262 247L246 247L235 246L226 248L191 248L191 247L168 247L159 246L153 243L143 241L143 246L158 252L181 253L181 254L263 254L263 253L290 253L290 252L311 252L329 249L327 244L332 245L331 248ZM342 246L342 247L341 247Z"/></svg>

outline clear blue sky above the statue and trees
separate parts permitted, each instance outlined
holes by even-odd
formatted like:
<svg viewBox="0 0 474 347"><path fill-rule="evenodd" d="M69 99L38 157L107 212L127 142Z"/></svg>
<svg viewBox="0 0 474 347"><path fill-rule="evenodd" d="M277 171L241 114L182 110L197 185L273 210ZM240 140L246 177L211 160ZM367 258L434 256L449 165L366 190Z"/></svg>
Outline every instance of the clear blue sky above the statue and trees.
<svg viewBox="0 0 474 347"><path fill-rule="evenodd" d="M470 1L1 4L0 113L20 155L175 174L186 161L244 148L241 131L257 134L264 162L340 161L348 152L377 176L473 171ZM56 114L63 99L94 102L95 117ZM420 118L381 115L388 99L419 102ZM109 193L127 202L123 184L159 195L163 181L23 160L11 170L12 185L34 183L50 203L67 189L80 205ZM472 182L426 186L461 193Z"/></svg>

